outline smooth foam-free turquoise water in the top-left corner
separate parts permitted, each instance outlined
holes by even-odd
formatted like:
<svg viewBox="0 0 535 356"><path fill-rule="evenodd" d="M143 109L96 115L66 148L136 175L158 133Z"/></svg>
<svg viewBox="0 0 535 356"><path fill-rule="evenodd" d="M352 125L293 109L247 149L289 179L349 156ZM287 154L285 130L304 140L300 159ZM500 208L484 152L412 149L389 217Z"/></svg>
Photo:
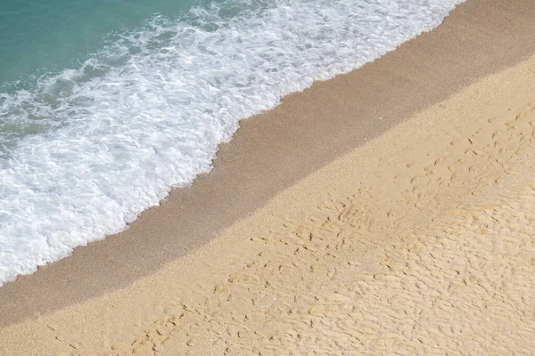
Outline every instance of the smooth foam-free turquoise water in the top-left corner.
<svg viewBox="0 0 535 356"><path fill-rule="evenodd" d="M191 0L12 0L0 2L0 86L76 68L106 36L156 13L176 17Z"/></svg>

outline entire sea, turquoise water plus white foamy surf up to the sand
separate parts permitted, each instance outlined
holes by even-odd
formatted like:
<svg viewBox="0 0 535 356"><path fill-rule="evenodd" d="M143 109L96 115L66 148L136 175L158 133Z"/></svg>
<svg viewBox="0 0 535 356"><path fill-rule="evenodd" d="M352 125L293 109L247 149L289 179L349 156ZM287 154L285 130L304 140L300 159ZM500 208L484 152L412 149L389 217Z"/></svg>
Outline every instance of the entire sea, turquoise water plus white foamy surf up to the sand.
<svg viewBox="0 0 535 356"><path fill-rule="evenodd" d="M461 2L0 3L0 285L124 230L209 172L240 119Z"/></svg>

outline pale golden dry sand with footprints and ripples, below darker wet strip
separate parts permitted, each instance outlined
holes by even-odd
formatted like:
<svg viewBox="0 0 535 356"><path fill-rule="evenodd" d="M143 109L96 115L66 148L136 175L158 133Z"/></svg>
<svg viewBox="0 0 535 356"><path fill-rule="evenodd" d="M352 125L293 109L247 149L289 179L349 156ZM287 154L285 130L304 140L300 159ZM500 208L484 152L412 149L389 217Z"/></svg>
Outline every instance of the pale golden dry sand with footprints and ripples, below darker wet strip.
<svg viewBox="0 0 535 356"><path fill-rule="evenodd" d="M2 355L535 353L535 57Z"/></svg>

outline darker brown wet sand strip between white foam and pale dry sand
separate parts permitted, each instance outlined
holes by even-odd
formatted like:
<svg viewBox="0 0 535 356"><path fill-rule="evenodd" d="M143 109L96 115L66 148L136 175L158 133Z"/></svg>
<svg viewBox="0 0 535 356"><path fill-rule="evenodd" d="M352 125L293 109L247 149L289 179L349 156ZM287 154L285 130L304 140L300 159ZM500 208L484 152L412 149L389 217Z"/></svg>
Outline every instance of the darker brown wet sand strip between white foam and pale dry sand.
<svg viewBox="0 0 535 356"><path fill-rule="evenodd" d="M128 231L78 247L72 256L0 287L0 326L151 275L334 158L535 53L533 6L529 1L501 3L468 1L431 33L242 121L233 141L219 150L210 174L202 174L192 187L174 190Z"/></svg>

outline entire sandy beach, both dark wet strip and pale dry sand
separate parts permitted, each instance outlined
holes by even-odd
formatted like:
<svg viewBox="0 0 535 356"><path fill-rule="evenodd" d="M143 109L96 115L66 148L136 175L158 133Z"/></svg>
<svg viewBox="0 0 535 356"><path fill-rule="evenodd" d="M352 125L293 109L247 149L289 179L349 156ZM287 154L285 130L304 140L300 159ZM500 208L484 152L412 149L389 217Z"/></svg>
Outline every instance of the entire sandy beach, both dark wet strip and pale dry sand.
<svg viewBox="0 0 535 356"><path fill-rule="evenodd" d="M0 355L533 354L535 6L243 121L130 229L0 287Z"/></svg>

